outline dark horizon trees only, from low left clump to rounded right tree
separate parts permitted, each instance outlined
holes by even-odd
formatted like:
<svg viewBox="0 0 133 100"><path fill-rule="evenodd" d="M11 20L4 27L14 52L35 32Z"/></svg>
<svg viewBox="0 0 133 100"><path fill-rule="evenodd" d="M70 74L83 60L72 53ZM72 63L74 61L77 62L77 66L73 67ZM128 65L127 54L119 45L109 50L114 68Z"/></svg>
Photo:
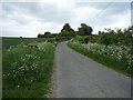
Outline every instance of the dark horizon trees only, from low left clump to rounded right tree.
<svg viewBox="0 0 133 100"><path fill-rule="evenodd" d="M50 31L44 32L43 34L39 33L38 38L54 38L54 37L69 37L74 38L75 36L90 36L92 34L92 27L81 23L81 27L78 28L78 31L74 31L69 23L65 23L59 33L51 33Z"/></svg>

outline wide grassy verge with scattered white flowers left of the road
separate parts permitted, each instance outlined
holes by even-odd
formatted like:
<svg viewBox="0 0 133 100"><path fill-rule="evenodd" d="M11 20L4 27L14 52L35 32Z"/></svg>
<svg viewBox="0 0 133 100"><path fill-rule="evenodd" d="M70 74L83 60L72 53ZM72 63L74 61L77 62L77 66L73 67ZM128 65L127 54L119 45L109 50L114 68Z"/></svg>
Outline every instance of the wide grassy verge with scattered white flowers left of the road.
<svg viewBox="0 0 133 100"><path fill-rule="evenodd" d="M3 50L2 97L42 98L49 91L55 46L21 44Z"/></svg>

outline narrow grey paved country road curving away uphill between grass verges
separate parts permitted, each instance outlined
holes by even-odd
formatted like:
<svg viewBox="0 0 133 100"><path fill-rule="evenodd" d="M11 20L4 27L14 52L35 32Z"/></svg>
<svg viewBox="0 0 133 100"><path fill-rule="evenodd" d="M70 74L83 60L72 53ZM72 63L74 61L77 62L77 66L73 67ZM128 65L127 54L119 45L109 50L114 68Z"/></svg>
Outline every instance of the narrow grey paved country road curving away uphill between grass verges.
<svg viewBox="0 0 133 100"><path fill-rule="evenodd" d="M55 52L55 98L131 98L131 79L73 51Z"/></svg>

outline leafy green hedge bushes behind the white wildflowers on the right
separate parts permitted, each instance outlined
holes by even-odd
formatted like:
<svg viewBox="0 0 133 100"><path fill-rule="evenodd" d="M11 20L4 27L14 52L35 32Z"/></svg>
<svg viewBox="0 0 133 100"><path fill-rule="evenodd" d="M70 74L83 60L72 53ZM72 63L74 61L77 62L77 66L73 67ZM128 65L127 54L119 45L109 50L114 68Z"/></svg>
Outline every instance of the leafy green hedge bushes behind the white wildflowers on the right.
<svg viewBox="0 0 133 100"><path fill-rule="evenodd" d="M106 32L99 31L99 43L105 44L106 47L110 44L120 44L120 46L133 46L133 27L129 27L127 29L121 30L111 30L108 29Z"/></svg>

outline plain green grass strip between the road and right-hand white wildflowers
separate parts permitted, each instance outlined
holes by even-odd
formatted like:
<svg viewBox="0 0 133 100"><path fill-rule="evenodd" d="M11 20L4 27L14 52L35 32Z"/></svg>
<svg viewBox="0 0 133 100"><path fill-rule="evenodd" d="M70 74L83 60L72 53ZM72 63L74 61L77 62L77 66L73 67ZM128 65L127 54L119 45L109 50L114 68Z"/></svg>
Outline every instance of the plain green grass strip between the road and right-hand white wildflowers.
<svg viewBox="0 0 133 100"><path fill-rule="evenodd" d="M115 70L120 73L123 73L125 76L131 76L131 70L127 70L127 64L121 61L116 61L115 59L111 59L110 57L104 57L104 56L99 56L95 53L91 53L88 51L88 49L84 49L80 43L73 43L72 41L68 43L68 46L78 51L79 53L82 53L86 57L89 57L90 59L104 64L105 67Z"/></svg>

